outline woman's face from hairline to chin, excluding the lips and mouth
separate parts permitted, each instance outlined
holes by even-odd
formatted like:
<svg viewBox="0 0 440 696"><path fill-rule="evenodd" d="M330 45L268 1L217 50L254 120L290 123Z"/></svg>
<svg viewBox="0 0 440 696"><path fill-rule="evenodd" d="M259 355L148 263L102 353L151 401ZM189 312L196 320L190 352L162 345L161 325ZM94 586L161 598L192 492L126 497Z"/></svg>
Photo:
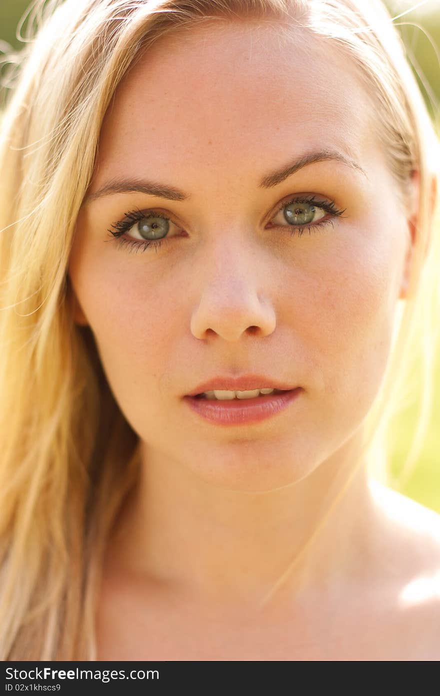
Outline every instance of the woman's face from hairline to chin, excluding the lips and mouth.
<svg viewBox="0 0 440 696"><path fill-rule="evenodd" d="M337 456L389 356L409 227L364 88L322 46L255 22L158 41L106 113L77 221L76 321L147 461L220 487L275 489ZM122 180L145 191L108 187ZM136 210L119 246L109 230ZM154 224L166 236L142 251ZM245 425L209 422L183 398L248 373L302 391Z"/></svg>

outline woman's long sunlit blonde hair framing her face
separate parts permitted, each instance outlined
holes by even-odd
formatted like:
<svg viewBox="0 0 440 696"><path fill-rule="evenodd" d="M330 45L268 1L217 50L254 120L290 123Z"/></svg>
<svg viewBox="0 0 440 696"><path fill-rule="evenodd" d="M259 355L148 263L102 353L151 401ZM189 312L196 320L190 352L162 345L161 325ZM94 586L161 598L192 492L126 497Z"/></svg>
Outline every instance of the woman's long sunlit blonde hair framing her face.
<svg viewBox="0 0 440 696"><path fill-rule="evenodd" d="M22 54L3 61L11 90L0 130L2 660L96 659L100 564L115 515L136 483L139 443L108 387L89 327L74 323L67 264L117 84L141 49L214 17L272 19L284 29L294 23L348 54L375 100L378 136L402 191L412 172L420 173L409 296L368 416L369 452L382 451L396 412L416 318L423 317L425 347L434 345L439 248L431 235L428 157L438 143L382 3L33 3ZM425 358L426 387L432 365L429 353Z"/></svg>

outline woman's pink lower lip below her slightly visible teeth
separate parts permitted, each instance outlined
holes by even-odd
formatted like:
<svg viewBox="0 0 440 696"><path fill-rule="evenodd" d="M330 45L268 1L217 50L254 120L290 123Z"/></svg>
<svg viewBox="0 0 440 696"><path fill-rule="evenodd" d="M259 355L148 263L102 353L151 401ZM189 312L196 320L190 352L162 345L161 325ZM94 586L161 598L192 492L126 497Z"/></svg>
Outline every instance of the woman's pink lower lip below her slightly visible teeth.
<svg viewBox="0 0 440 696"><path fill-rule="evenodd" d="M275 416L286 409L302 392L301 387L280 394L266 394L254 399L213 400L184 397L193 411L216 425L248 425Z"/></svg>

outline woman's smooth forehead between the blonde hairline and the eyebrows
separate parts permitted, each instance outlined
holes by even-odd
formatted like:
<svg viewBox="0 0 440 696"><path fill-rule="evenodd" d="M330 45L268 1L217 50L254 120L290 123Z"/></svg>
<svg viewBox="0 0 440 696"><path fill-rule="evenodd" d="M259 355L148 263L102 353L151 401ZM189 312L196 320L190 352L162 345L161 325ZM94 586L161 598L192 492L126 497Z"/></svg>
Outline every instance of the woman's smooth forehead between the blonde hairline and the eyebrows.
<svg viewBox="0 0 440 696"><path fill-rule="evenodd" d="M99 178L128 157L131 173L245 162L256 178L271 154L277 164L334 146L356 159L369 122L355 68L329 40L272 20L211 20L159 39L124 77L101 129Z"/></svg>

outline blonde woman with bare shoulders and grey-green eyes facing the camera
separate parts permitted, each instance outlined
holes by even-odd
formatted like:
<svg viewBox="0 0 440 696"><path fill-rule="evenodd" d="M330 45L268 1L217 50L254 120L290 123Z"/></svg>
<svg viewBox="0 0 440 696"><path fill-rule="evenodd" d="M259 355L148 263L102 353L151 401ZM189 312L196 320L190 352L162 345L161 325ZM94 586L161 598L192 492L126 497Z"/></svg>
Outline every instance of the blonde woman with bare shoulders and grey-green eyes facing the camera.
<svg viewBox="0 0 440 696"><path fill-rule="evenodd" d="M386 10L34 10L1 130L1 657L439 659L439 517L368 474L437 262Z"/></svg>

